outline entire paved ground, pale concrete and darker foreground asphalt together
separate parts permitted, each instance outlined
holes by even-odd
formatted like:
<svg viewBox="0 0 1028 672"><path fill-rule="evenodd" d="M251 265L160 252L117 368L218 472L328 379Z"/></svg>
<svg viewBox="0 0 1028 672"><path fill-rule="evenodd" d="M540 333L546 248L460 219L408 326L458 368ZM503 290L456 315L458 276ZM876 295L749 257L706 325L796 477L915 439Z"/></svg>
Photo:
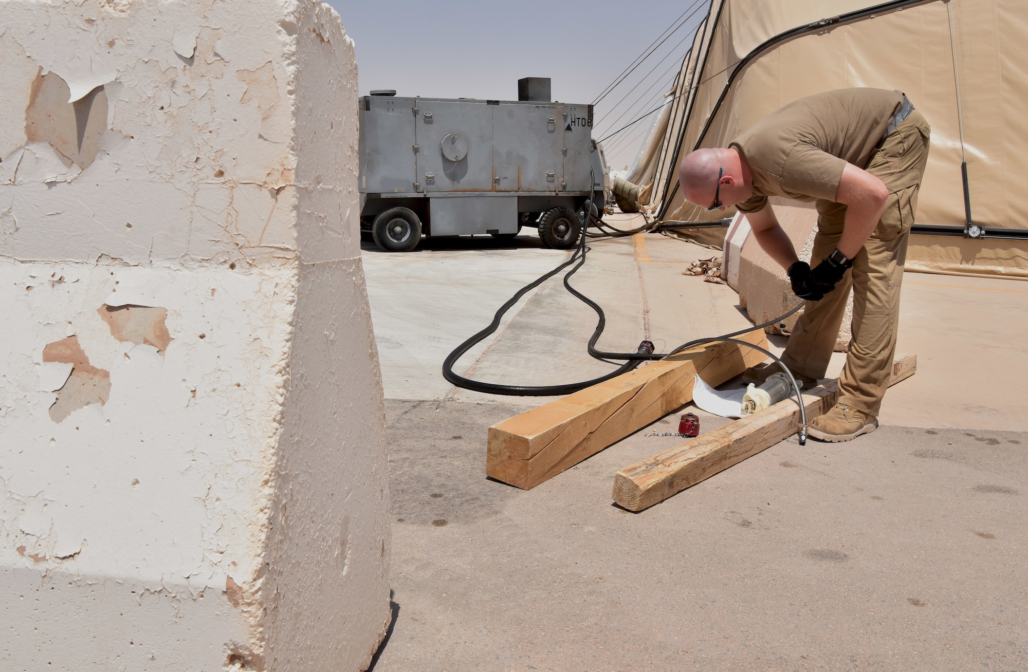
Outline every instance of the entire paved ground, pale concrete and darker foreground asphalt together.
<svg viewBox="0 0 1028 672"><path fill-rule="evenodd" d="M485 430L545 400L439 374L565 253L531 236L429 242L365 253L391 398L397 615L375 670L1028 668L1028 284L908 273L900 349L919 367L890 389L885 426L783 442L628 514L614 473L678 443L654 436L671 418L521 491L485 479ZM681 274L719 254L654 234L597 241L572 282L608 311L601 346L649 333L666 351L748 324L730 289ZM595 315L558 279L511 315L458 373L544 384L613 368L585 353ZM727 421L699 414L702 431Z"/></svg>

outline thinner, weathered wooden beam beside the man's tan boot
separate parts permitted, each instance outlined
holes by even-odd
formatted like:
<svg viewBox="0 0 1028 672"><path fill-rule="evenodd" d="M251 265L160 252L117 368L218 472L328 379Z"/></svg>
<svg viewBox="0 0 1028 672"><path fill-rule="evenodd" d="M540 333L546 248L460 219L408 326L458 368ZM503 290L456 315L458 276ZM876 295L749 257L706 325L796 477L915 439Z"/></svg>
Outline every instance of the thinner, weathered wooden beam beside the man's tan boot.
<svg viewBox="0 0 1028 672"><path fill-rule="evenodd" d="M917 371L917 356L896 356L889 385ZM839 398L835 380L803 394L807 422L827 413ZM613 497L628 511L642 511L718 472L784 441L800 431L796 399L747 415L619 471Z"/></svg>

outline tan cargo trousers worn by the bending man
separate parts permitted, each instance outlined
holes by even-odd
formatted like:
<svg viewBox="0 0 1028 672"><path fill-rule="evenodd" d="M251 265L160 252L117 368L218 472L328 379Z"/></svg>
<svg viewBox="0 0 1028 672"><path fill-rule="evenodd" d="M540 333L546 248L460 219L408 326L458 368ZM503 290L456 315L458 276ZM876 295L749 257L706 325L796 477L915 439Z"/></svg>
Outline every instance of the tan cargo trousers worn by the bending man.
<svg viewBox="0 0 1028 672"><path fill-rule="evenodd" d="M900 286L930 134L928 122L914 110L871 155L865 170L889 190L882 218L835 291L820 301L807 302L782 357L794 373L823 378L852 289L852 339L839 376L839 401L875 416L882 406L895 353ZM842 236L846 207L820 201L817 212L811 266L835 250Z"/></svg>

